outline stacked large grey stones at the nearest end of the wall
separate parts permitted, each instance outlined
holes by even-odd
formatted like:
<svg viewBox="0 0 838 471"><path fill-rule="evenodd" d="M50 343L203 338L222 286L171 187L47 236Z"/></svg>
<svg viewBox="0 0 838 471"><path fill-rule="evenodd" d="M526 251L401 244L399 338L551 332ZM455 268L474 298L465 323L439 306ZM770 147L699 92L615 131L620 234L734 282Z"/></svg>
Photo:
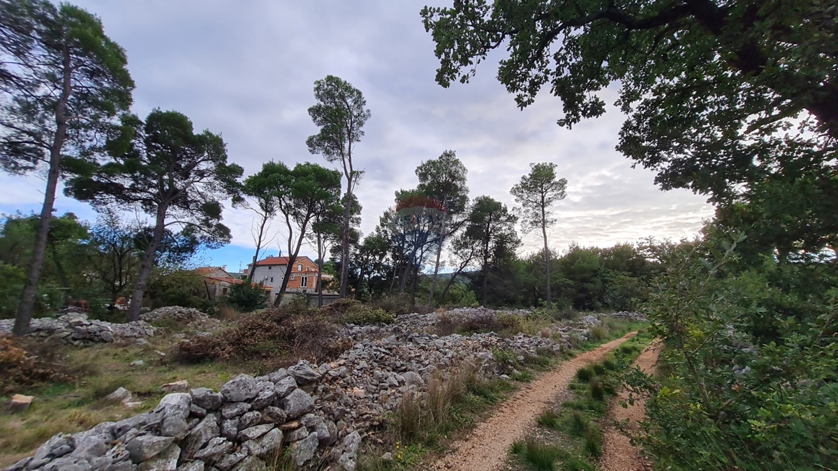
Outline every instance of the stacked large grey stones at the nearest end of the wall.
<svg viewBox="0 0 838 471"><path fill-rule="evenodd" d="M87 432L59 433L7 471L264 470L265 459L283 443L290 443L297 466L328 447L336 462L354 468L360 434L339 436L334 422L316 411L313 397L299 387L321 376L301 362L267 376L236 376L219 392L168 394L153 411Z"/></svg>

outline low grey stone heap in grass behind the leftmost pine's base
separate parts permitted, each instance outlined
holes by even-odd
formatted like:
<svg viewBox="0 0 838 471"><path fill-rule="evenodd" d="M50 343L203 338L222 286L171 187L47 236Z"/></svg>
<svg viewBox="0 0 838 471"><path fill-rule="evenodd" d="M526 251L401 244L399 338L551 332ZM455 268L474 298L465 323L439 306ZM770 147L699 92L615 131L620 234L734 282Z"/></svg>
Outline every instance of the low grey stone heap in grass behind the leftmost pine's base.
<svg viewBox="0 0 838 471"><path fill-rule="evenodd" d="M14 319L0 320L0 334L11 334L13 326ZM75 345L153 337L156 330L142 320L110 323L89 319L85 313L66 313L59 318L34 318L29 323L29 329L30 336L51 337Z"/></svg>

